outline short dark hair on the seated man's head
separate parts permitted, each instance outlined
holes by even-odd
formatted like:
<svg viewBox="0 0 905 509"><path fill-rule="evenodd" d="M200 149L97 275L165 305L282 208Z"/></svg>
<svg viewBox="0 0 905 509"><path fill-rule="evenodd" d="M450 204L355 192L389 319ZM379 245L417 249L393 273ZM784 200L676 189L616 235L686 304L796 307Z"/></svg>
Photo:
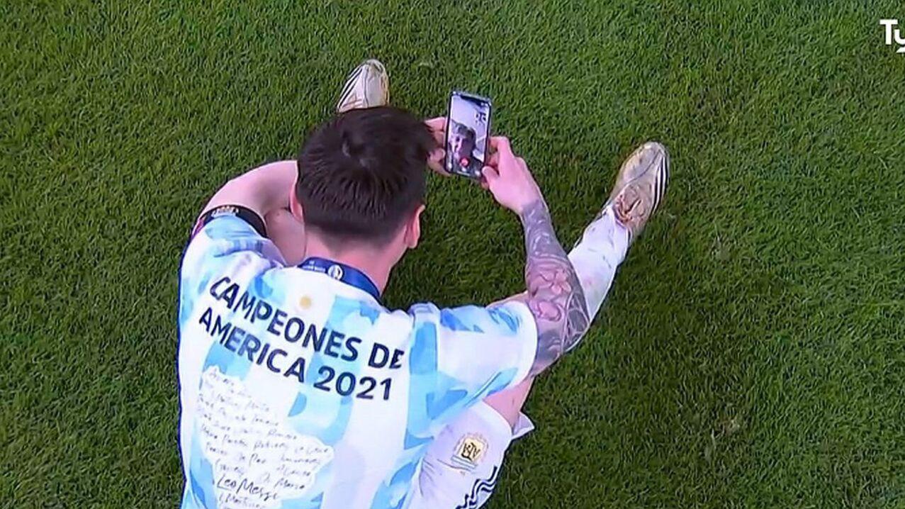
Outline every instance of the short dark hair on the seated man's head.
<svg viewBox="0 0 905 509"><path fill-rule="evenodd" d="M391 107L350 110L324 122L299 153L305 226L336 241L383 244L424 202L436 141L424 121Z"/></svg>

